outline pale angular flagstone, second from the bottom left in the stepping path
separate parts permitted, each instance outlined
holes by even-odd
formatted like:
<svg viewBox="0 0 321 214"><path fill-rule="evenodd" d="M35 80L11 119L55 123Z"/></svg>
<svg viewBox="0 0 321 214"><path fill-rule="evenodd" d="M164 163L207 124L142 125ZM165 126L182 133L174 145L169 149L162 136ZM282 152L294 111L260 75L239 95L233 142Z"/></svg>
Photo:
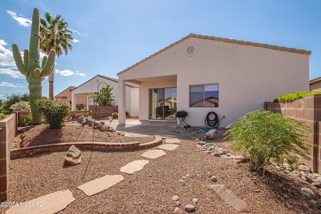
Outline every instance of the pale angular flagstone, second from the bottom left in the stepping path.
<svg viewBox="0 0 321 214"><path fill-rule="evenodd" d="M101 192L109 187L122 181L124 177L122 175L105 175L103 177L94 179L87 183L84 183L77 188L85 192L86 195L91 196L98 192Z"/></svg>

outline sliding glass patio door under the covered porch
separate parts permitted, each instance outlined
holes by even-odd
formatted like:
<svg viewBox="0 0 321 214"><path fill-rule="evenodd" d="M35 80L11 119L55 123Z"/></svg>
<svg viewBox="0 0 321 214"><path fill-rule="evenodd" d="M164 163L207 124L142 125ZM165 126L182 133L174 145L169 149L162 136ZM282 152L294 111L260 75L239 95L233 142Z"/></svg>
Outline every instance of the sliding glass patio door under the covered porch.
<svg viewBox="0 0 321 214"><path fill-rule="evenodd" d="M177 88L149 89L149 119L175 119Z"/></svg>

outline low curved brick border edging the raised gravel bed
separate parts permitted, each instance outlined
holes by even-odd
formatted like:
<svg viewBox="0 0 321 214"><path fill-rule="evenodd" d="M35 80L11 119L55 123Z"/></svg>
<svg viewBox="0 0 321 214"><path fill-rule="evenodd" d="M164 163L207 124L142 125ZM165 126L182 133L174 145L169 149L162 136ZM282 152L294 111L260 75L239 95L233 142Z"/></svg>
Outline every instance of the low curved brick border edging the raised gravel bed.
<svg viewBox="0 0 321 214"><path fill-rule="evenodd" d="M155 139L148 143L128 142L128 143L105 143L105 142L74 142L74 143L56 143L38 146L28 146L19 149L12 149L10 152L11 159L28 157L34 154L68 150L71 145L75 145L78 149L94 149L94 150L133 150L151 148L162 143L162 137L154 135Z"/></svg>

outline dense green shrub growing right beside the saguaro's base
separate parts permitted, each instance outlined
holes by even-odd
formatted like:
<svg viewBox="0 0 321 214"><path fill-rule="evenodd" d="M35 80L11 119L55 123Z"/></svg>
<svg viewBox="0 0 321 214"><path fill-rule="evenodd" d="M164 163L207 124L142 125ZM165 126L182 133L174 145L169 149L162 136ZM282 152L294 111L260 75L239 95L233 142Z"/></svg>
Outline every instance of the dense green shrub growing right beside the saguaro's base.
<svg viewBox="0 0 321 214"><path fill-rule="evenodd" d="M65 117L69 115L70 105L68 103L45 98L36 100L35 103L51 129L61 128L65 122Z"/></svg>

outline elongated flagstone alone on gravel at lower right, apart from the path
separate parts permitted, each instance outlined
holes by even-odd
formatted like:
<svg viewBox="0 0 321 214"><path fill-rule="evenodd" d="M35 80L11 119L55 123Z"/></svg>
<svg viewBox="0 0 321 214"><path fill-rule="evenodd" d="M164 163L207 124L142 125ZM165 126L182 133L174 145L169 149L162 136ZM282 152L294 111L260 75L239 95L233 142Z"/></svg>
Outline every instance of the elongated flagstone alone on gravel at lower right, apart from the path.
<svg viewBox="0 0 321 214"><path fill-rule="evenodd" d="M238 212L246 212L248 209L247 203L238 198L231 190L226 189L224 184L219 185L209 185L209 189L214 189L214 191L223 199L225 202L233 206L233 208Z"/></svg>

